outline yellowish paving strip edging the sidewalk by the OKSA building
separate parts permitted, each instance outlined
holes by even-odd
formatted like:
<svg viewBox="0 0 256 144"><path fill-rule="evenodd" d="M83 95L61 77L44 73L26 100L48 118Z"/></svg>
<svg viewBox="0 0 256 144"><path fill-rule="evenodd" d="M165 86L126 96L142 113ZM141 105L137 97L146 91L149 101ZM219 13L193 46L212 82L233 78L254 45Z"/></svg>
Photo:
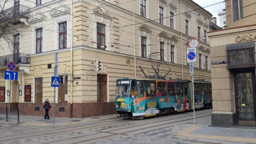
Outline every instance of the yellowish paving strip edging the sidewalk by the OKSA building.
<svg viewBox="0 0 256 144"><path fill-rule="evenodd" d="M200 128L202 126L191 126L177 133L177 135L182 135L190 138L205 138L205 139L215 139L215 140L229 140L236 142L246 142L246 143L256 143L256 139L251 138L241 138L241 137L228 137L228 136L214 136L214 135L201 135L201 134L190 134L190 132Z"/></svg>

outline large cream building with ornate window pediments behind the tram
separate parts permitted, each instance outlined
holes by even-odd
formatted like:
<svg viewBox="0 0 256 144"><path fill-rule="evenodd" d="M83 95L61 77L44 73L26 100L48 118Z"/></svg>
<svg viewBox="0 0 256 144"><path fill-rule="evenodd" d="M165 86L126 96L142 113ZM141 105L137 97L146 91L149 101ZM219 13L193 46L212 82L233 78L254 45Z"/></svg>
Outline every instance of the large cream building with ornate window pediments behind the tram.
<svg viewBox="0 0 256 144"><path fill-rule="evenodd" d="M9 7L15 7L15 2ZM147 56L164 57L169 79L190 80L186 62L188 40L197 38L194 79L211 81L210 43L206 33L212 15L192 0L20 0L29 16L18 16L20 33L14 49L1 51L0 107L9 103L25 115L43 115L45 98L53 102L51 76L58 52L61 86L56 116L90 117L114 114L116 79L153 75ZM11 5L12 4L12 5ZM199 9L196 11L192 11ZM0 42L5 45L4 41ZM17 54L16 54L17 53ZM95 61L101 70L95 72ZM3 74L8 61L17 64L18 81L11 88ZM89 71L91 70L91 71ZM162 75L168 68L160 65ZM21 86L20 86L21 85ZM50 112L50 116L52 112Z"/></svg>

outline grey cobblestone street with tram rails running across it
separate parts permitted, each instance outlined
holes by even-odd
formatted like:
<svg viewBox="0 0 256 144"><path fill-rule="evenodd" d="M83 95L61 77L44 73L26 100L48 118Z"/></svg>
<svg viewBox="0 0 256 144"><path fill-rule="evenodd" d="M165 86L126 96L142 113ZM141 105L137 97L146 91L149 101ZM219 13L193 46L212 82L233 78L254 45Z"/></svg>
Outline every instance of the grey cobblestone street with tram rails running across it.
<svg viewBox="0 0 256 144"><path fill-rule="evenodd" d="M211 124L211 109L196 111L197 125ZM0 125L0 144L208 144L212 140L177 133L191 127L193 113L145 118L108 119L75 125ZM201 128L202 129L202 128ZM218 141L219 142L219 141ZM234 143L221 141L221 143Z"/></svg>

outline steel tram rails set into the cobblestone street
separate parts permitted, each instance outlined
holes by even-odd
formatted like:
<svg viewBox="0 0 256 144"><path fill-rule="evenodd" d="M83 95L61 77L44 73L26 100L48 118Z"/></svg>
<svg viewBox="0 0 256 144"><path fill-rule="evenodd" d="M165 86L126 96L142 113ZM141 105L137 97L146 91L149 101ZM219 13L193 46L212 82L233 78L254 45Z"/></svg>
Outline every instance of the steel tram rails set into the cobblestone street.
<svg viewBox="0 0 256 144"><path fill-rule="evenodd" d="M199 113L199 114L196 114L196 115L202 115L202 114L205 114L205 113L209 113L209 112L204 112L204 113ZM166 119L166 120L161 120L161 121L158 121L158 120L155 120L154 122L151 122L151 123L147 123L147 124L152 124L152 123L157 123L157 122L164 122L164 121L169 121L169 120L175 120L175 119L181 119L181 118L185 118L185 117L190 117L190 116L193 116L193 115L187 115L187 116L182 116L182 117L177 117L177 118L171 118L171 119ZM209 115L205 115L205 116L209 116ZM200 117L205 117L205 116L200 116ZM200 118L200 117L196 117L196 118ZM154 126L150 126L150 127L146 127L146 128L139 128L139 129L136 129L136 130L142 130L142 129L147 129L147 128L152 128L152 127L157 127L157 126L162 126L162 125L166 125L166 124L171 124L171 123L176 123L176 122L181 122L181 121L187 121L187 120L191 120L193 118L189 118L189 119L184 119L184 120L178 120L178 121L174 121L174 122L169 122L169 123L164 123L164 124L159 124L159 125L154 125ZM120 120L124 120L124 119L120 119ZM79 125L79 126L74 126L74 127L68 127L68 128L61 128L61 129L54 129L54 131L57 131L57 132L50 132L49 131L43 131L43 132L47 132L45 134L42 134L42 132L36 132L38 133L38 135L34 135L36 134L35 132L33 133L27 133L27 134L32 134L32 135L29 135L29 136L21 136L21 137L17 137L17 138L11 138L11 139L5 139L5 140L2 140L2 141L8 141L8 140L17 140L17 139L21 139L21 138L27 138L27 137L37 137L37 136L43 136L43 135L49 135L49 134L56 134L56 133L63 133L63 132L67 132L67 131L75 131L75 130L82 130L82 129L87 129L87 128L91 128L91 127L99 127L99 126L105 126L105 125L111 125L111 124L116 124L116 121L120 121L120 120L114 120L114 121L108 121L108 122L100 122L100 123L91 123L91 124L86 124L86 125ZM126 120L124 122L129 122L129 121L134 121L134 120ZM110 123L109 123L110 122ZM122 121L123 122L123 121ZM107 123L107 124L102 124L102 125L96 125L96 124L101 124L101 123ZM91 125L91 126L90 126ZM94 125L94 126L92 126ZM96 125L96 126L95 126ZM83 127L83 126L89 126L89 127ZM77 128L77 129L72 129L72 128L76 128L76 127L80 127L80 128ZM81 128L82 127L82 128ZM137 127L137 125L134 125L134 126L129 126L129 128L133 128L133 127ZM70 129L71 128L71 129ZM65 131L58 131L58 130L64 130L64 129L69 129L69 130L65 130ZM88 129L90 130L90 129ZM114 132L111 132L111 131L115 131L114 130L109 130L109 131L94 131L94 132L98 132L98 133L94 133L94 134L99 134L99 133L109 133L109 134L112 134L112 135L128 135L127 133L129 132L133 132L133 131L136 131L136 130L132 130L132 131L126 131L126 132L123 132L123 133L114 133ZM40 133L40 134L39 134ZM24 134L24 135L27 135L27 134ZM92 135L92 134L89 134L89 135ZM105 137L110 137L112 135L108 135L108 136L103 136L103 137L98 137L98 138L93 138L93 139L90 139L90 140L85 140L85 141L82 141L82 142L86 142L86 141L92 141L92 140L95 140L95 139L100 139L100 138L105 138ZM17 136L17 135L16 135ZM68 139L76 139L76 138L81 138L81 137L85 137L85 136L88 136L87 135L82 135L82 136L76 136L76 137L73 137L73 138L67 138L66 140ZM5 136L6 137L6 136ZM13 136L12 136L13 137ZM1 137L0 137L1 138ZM3 137L2 137L3 138ZM65 140L65 139L64 139ZM53 142L59 142L59 141L63 141L62 140L58 140L58 141L53 141ZM52 142L51 142L52 143ZM80 143L80 142L79 142Z"/></svg>

